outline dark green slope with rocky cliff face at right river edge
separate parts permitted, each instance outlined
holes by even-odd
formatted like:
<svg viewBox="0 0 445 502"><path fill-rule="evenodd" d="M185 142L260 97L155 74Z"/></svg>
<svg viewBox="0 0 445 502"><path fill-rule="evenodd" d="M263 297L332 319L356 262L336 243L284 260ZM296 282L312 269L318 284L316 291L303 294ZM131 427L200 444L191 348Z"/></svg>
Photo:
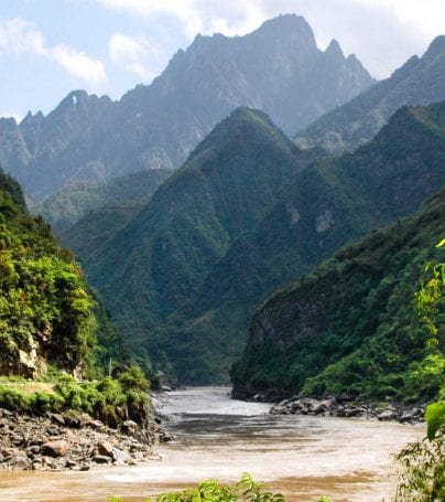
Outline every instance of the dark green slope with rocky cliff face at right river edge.
<svg viewBox="0 0 445 502"><path fill-rule="evenodd" d="M253 316L234 392L260 391L422 402L443 381L442 343L433 353L414 308L425 264L444 261L445 191L413 217L341 248ZM442 370L441 370L442 365Z"/></svg>

